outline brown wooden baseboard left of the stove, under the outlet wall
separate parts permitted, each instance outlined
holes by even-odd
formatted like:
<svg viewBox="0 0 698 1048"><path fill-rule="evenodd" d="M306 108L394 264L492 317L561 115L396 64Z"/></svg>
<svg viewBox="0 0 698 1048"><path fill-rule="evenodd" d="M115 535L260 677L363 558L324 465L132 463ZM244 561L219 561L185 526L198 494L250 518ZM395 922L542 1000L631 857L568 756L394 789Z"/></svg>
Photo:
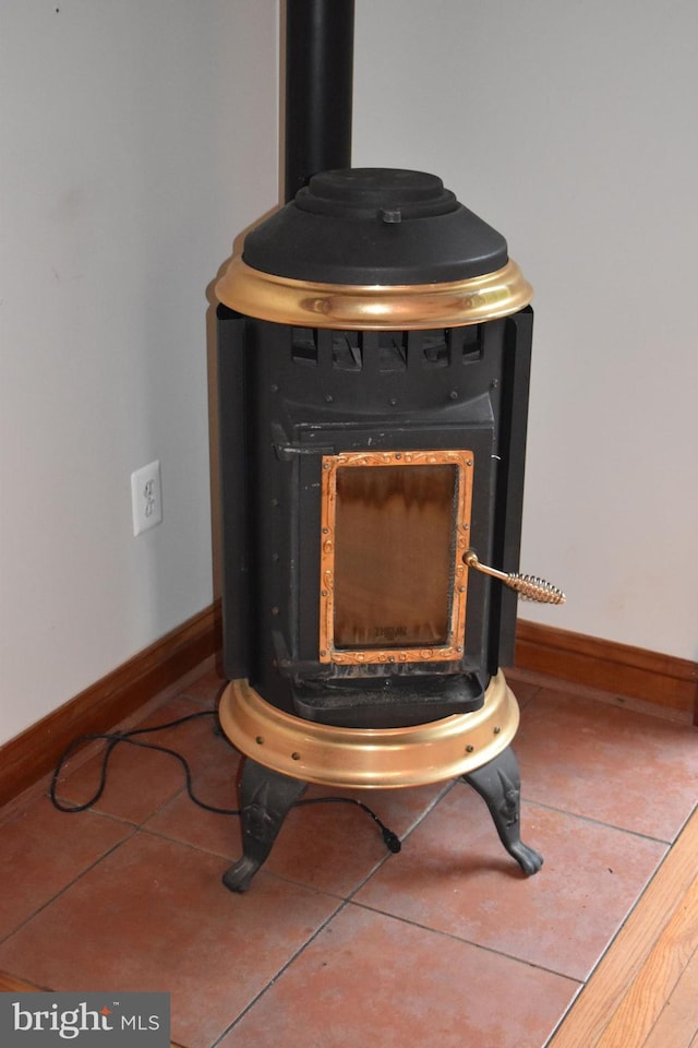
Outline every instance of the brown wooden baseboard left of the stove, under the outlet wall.
<svg viewBox="0 0 698 1048"><path fill-rule="evenodd" d="M216 603L7 742L0 748L0 805L50 772L77 736L108 731L203 663L220 648L220 639Z"/></svg>

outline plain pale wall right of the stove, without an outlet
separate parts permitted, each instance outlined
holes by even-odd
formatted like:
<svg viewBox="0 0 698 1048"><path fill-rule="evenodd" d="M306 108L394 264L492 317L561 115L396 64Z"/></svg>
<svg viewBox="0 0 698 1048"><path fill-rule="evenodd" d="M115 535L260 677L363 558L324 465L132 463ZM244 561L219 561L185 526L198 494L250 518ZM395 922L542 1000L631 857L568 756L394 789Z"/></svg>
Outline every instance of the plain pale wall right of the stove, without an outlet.
<svg viewBox="0 0 698 1048"><path fill-rule="evenodd" d="M698 4L358 0L353 163L412 167L534 285L522 617L698 658Z"/></svg>

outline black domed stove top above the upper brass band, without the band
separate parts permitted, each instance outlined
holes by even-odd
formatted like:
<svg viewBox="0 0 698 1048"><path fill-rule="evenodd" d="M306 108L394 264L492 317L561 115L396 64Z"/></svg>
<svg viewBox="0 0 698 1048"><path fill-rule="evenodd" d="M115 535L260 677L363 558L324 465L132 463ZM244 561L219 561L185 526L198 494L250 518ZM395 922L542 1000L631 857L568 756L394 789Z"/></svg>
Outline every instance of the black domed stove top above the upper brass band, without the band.
<svg viewBox="0 0 698 1048"><path fill-rule="evenodd" d="M242 258L297 281L405 285L482 276L508 254L435 175L349 168L313 176L248 235Z"/></svg>

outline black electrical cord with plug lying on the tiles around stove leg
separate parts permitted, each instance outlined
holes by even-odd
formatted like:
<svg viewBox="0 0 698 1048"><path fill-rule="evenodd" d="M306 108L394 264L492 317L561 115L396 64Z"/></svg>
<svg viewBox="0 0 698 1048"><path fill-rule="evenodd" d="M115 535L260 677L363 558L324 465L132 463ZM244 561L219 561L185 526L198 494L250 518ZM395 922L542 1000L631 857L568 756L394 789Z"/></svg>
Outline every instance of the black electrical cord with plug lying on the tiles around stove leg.
<svg viewBox="0 0 698 1048"><path fill-rule="evenodd" d="M171 750L167 746L157 746L154 742L143 742L134 736L136 735L149 735L152 731L164 731L166 728L176 728L180 724L185 724L188 720L195 720L200 717L217 717L217 711L215 710L204 710L201 713L190 713L185 717L179 717L177 720L168 720L166 724L157 724L152 728L134 728L131 731L108 731L97 735L81 735L79 738L74 739L71 745L62 753L56 770L51 777L51 785L49 787L49 797L51 803L59 811L68 812L69 814L74 814L79 811L86 811L87 808L92 808L97 803L99 798L105 791L107 786L107 771L109 767L109 759L113 753L115 749L119 743L125 742L129 746L139 746L144 750L156 750L158 753L167 753L169 757L173 757L181 764L184 771L184 778L186 783L186 793L190 800L193 801L198 808L203 808L204 811L212 811L217 815L240 815L240 808L217 808L214 805L207 805L206 801L201 800L194 794L192 786L192 771L189 765L189 762L181 753L178 753L177 750ZM95 794L82 805L65 805L57 797L58 785L60 782L61 773L65 765L65 762L70 757L86 742L103 741L106 742L105 752L101 761L101 770L99 774L99 785ZM356 800L353 797L312 797L305 800L297 800L292 806L293 808L302 808L304 805L329 805L329 803L342 803L342 805L356 805L358 808L361 808L362 811L365 811L370 815L376 825L381 829L383 835L383 841L385 842L386 847L393 851L398 853L402 847L400 838L392 830L381 822L378 817L368 805L364 805L361 800Z"/></svg>

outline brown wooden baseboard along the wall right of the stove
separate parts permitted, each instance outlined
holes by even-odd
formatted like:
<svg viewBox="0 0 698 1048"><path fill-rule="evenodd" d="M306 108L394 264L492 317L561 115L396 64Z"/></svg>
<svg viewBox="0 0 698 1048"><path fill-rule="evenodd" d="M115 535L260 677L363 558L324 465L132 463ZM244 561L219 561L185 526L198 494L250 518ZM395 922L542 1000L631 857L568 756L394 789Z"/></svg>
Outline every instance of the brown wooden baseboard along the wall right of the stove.
<svg viewBox="0 0 698 1048"><path fill-rule="evenodd" d="M698 663L686 658L519 619L515 667L698 717Z"/></svg>

